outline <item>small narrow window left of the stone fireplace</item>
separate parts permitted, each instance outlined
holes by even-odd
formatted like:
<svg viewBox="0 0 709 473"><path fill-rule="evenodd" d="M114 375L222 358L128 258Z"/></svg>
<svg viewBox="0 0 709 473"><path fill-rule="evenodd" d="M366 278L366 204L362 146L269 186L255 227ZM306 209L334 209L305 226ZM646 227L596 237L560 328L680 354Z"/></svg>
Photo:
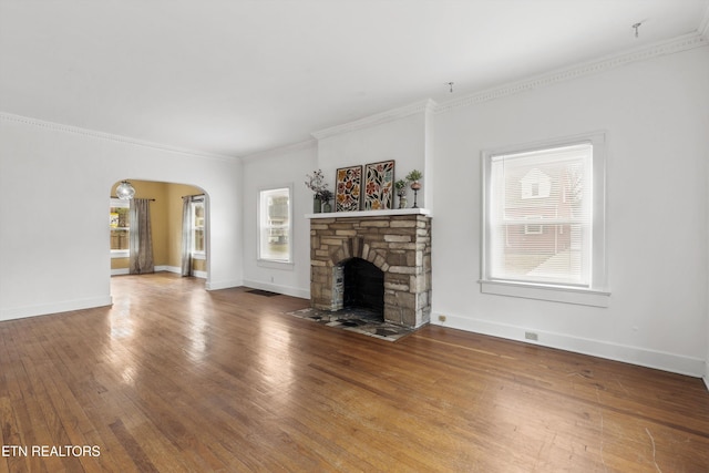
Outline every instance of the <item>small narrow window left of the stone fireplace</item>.
<svg viewBox="0 0 709 473"><path fill-rule="evenodd" d="M259 192L258 259L291 263L291 187Z"/></svg>

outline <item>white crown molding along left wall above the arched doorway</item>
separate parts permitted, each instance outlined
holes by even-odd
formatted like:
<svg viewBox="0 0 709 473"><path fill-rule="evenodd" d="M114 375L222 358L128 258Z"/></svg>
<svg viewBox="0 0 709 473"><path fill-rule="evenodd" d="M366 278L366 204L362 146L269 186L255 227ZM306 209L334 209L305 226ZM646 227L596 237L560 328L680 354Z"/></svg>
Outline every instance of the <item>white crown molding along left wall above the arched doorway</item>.
<svg viewBox="0 0 709 473"><path fill-rule="evenodd" d="M29 126L35 126L35 127L40 127L40 128L51 130L51 131L54 131L54 132L70 133L70 134L82 135L82 136L86 136L86 137L95 138L95 140L103 140L103 141L115 142L115 143L123 143L123 144L129 144L129 145L133 145L133 146L147 147L147 148L152 148L152 150L164 151L164 152L168 152L168 153L183 154L183 155L189 155L189 156L196 156L196 157L203 157L203 158L208 158L208 160L218 160L218 161L234 161L234 160L236 160L236 157L234 157L234 156L226 156L226 155L220 155L220 154L210 154L210 153L204 153L204 152L199 152L199 151L195 151L195 150L187 150L187 148L181 148L181 147L176 147L176 146L168 146L168 145L161 144L161 143L153 143L153 142L147 142L147 141L142 141L142 140L131 138L131 137L127 137L127 136L114 135L114 134L105 133L105 132L97 132L95 130L82 128L80 126L63 125L61 123L47 122L44 120L32 119L30 116L16 115L16 114L12 114L12 113L7 113L7 112L0 112L0 121L9 122L9 123L20 123L20 124L23 124L23 125L29 125Z"/></svg>

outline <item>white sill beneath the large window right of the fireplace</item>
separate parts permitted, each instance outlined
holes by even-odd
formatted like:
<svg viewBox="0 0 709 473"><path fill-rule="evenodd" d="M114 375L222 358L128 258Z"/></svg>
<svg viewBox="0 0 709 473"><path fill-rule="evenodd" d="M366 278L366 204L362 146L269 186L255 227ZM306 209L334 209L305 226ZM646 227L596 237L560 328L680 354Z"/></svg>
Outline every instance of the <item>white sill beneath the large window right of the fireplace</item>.
<svg viewBox="0 0 709 473"><path fill-rule="evenodd" d="M552 287L507 281L480 280L483 294L521 297L524 299L548 300L553 302L575 304L579 306L608 307L610 292L593 289Z"/></svg>

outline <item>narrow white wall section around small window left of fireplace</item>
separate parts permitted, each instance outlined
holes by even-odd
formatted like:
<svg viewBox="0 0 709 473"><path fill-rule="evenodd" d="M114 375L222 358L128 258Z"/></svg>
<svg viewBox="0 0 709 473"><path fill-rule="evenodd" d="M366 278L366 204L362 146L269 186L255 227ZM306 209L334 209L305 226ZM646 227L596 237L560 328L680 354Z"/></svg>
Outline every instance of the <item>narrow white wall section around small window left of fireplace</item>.
<svg viewBox="0 0 709 473"><path fill-rule="evenodd" d="M315 141L244 160L244 284L248 287L310 297L310 220L312 192L306 174L318 168ZM258 193L292 186L292 264L259 263Z"/></svg>

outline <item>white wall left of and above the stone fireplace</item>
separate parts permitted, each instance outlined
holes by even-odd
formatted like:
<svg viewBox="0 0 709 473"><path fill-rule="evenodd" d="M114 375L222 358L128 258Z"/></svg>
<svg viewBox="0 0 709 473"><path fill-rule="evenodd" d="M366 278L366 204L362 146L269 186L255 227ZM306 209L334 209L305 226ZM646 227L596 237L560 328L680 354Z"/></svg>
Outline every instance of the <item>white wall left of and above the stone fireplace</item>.
<svg viewBox="0 0 709 473"><path fill-rule="evenodd" d="M414 104L382 116L316 132L317 141L301 143L244 158L244 284L290 296L310 297L310 220L312 192L305 185L306 174L322 169L328 188L335 191L338 167L394 160L395 178L411 169L424 171L425 123L429 103ZM425 191L427 176L422 183ZM294 264L257 261L258 191L294 186ZM429 198L419 195L419 206ZM413 194L409 191L409 205ZM394 202L394 205L398 200Z"/></svg>

